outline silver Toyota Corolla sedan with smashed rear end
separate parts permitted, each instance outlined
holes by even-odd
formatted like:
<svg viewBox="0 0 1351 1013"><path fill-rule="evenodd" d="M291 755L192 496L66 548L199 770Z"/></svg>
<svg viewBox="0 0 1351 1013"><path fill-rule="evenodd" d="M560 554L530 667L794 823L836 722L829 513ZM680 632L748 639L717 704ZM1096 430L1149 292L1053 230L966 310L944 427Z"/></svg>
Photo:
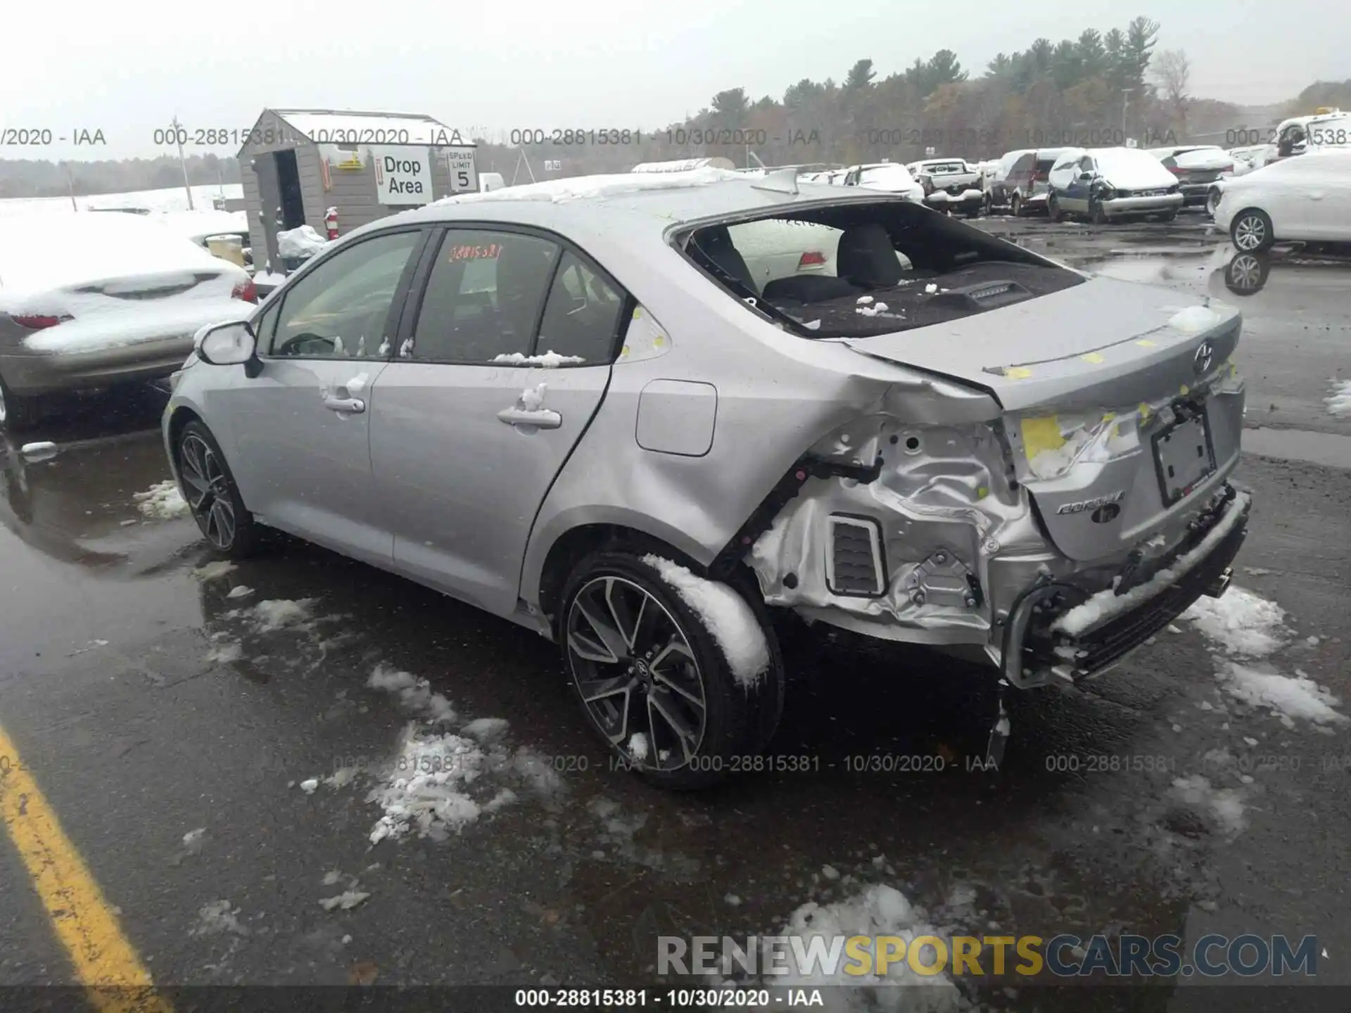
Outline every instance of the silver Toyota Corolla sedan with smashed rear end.
<svg viewBox="0 0 1351 1013"><path fill-rule="evenodd" d="M280 528L553 639L658 783L767 744L777 611L988 663L996 756L1004 686L1228 582L1240 319L1182 300L792 170L562 180L335 243L199 332L163 438L216 548Z"/></svg>

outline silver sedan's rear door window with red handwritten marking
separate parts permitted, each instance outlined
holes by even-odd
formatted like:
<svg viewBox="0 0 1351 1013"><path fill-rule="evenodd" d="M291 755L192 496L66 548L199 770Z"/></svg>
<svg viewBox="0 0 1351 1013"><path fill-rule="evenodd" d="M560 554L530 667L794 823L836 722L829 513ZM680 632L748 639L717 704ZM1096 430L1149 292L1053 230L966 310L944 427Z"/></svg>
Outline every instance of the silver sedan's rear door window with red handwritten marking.
<svg viewBox="0 0 1351 1013"><path fill-rule="evenodd" d="M486 363L528 355L558 255L557 243L534 235L449 230L399 357Z"/></svg>

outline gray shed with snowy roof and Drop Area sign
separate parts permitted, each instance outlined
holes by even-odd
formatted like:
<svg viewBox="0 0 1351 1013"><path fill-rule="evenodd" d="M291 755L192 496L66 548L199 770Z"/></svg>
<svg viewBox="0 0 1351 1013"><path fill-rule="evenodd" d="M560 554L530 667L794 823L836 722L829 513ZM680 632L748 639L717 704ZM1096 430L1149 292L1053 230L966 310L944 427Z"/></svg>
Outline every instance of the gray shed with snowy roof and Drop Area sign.
<svg viewBox="0 0 1351 1013"><path fill-rule="evenodd" d="M474 145L419 113L263 109L239 149L239 169L254 263L277 274L285 273L278 231L309 226L327 236L334 209L346 235L478 189Z"/></svg>

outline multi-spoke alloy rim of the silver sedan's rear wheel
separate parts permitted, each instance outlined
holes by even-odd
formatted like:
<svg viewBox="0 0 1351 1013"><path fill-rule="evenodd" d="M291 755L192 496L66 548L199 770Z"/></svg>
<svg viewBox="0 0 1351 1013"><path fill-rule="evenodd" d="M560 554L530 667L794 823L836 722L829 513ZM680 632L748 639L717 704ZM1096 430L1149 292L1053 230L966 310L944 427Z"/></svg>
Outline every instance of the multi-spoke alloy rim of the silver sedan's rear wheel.
<svg viewBox="0 0 1351 1013"><path fill-rule="evenodd" d="M573 682L611 744L643 769L689 764L708 698L689 639L661 601L624 577L594 577L573 596L565 629Z"/></svg>

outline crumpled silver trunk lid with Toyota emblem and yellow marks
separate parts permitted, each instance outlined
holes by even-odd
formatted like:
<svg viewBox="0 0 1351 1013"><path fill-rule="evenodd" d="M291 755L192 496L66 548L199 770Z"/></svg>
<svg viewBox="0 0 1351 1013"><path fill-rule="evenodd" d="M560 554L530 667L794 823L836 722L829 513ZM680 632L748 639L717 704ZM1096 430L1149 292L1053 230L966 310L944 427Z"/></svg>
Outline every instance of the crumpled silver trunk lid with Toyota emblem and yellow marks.
<svg viewBox="0 0 1351 1013"><path fill-rule="evenodd" d="M1019 481L1069 558L1162 551L1238 461L1239 312L1092 278L1039 298L843 343L981 388ZM1165 535L1155 539L1155 535Z"/></svg>

